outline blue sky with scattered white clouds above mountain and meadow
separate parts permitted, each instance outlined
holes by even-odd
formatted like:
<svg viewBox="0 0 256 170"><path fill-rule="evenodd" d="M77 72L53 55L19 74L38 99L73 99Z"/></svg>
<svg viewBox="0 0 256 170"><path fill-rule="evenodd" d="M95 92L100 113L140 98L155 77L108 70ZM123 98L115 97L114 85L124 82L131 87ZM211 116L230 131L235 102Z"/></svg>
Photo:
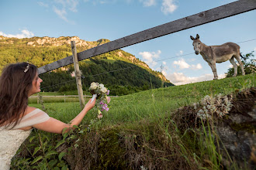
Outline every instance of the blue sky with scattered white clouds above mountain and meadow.
<svg viewBox="0 0 256 170"><path fill-rule="evenodd" d="M1 0L0 36L78 36L85 41L113 41L230 2L234 1ZM123 50L143 60L152 70L161 71L171 83L182 85L213 80L208 63L202 56L195 55L190 36L199 34L207 46L236 42L240 52L246 54L256 51L255 30L256 10L140 42ZM225 77L231 66L229 61L217 63L219 78Z"/></svg>

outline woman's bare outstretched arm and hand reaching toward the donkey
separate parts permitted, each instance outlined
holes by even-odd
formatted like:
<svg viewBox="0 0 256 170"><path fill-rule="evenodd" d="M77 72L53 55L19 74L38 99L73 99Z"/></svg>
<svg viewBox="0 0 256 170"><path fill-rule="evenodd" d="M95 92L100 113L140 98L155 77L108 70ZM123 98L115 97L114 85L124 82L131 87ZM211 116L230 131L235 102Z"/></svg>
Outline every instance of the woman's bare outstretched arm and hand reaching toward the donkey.
<svg viewBox="0 0 256 170"><path fill-rule="evenodd" d="M85 105L84 109L81 110L80 114L78 114L74 119L71 121L71 124L65 124L62 121L58 121L57 119L54 119L53 117L50 117L48 121L44 121L40 124L34 124L33 128L40 129L42 131L48 131L51 133L61 134L62 130L64 128L67 128L67 131L70 131L73 125L78 125L81 123L83 118L85 117L85 114L87 114L88 110L91 110L92 107L95 105L95 100L91 103L90 99L88 103ZM66 132L67 132L66 131Z"/></svg>

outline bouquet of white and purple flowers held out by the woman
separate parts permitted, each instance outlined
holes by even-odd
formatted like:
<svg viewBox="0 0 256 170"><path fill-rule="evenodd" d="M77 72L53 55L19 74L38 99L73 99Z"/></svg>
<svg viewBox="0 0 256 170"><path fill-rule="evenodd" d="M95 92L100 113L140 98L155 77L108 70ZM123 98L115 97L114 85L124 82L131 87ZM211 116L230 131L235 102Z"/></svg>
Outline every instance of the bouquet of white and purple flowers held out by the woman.
<svg viewBox="0 0 256 170"><path fill-rule="evenodd" d="M108 104L110 102L110 97L107 97L109 95L109 91L106 87L104 87L104 84L102 83L91 83L91 87L89 87L90 93L92 93L92 101L96 100L96 107L98 112L98 118L102 118L103 114L102 111L109 111Z"/></svg>

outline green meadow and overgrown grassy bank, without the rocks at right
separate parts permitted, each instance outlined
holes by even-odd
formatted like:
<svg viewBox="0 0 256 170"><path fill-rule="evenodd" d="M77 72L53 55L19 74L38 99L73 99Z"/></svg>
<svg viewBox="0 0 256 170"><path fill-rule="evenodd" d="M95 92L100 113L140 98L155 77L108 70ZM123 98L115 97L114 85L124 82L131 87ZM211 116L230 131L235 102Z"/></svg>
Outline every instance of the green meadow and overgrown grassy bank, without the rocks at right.
<svg viewBox="0 0 256 170"><path fill-rule="evenodd" d="M112 97L102 120L96 118L96 110L90 110L73 133L33 131L12 160L12 168L223 169L214 135L180 131L173 119L175 111L206 95L227 95L255 87L255 76L254 73ZM53 100L29 105L65 123L81 110L78 102ZM203 131L206 132L204 126ZM230 169L240 169L230 162Z"/></svg>

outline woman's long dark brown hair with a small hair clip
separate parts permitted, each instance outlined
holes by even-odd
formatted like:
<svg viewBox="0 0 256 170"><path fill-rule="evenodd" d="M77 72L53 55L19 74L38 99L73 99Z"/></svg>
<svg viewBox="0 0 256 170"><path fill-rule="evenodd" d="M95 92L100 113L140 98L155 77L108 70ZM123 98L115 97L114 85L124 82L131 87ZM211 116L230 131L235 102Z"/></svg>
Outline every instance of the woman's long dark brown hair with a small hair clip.
<svg viewBox="0 0 256 170"><path fill-rule="evenodd" d="M14 63L5 66L0 76L0 126L19 124L28 104L29 90L37 68L30 63ZM10 124L9 124L10 125ZM7 126L9 127L9 126Z"/></svg>

